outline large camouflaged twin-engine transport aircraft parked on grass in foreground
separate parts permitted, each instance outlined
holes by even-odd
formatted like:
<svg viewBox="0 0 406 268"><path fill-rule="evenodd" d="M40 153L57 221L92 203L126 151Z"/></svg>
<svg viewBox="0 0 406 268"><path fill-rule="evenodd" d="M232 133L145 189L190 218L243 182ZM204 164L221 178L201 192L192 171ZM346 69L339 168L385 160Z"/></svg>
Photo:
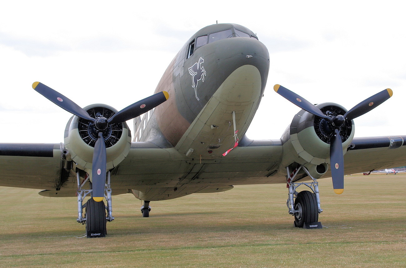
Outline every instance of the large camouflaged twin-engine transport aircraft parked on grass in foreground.
<svg viewBox="0 0 406 268"><path fill-rule="evenodd" d="M322 212L317 179L332 177L341 194L344 174L405 164L406 136L354 138L352 119L387 100L391 89L347 111L332 102L313 105L275 85L301 110L281 138L248 139L269 66L268 50L251 30L214 24L180 49L153 96L118 112L106 104L80 108L35 82L36 91L73 114L64 143L0 144L0 185L43 189L42 196L77 196L77 221L86 223L88 237L101 237L106 221L114 219L112 195L144 200L141 211L148 217L150 201L233 185L287 183L288 212L303 227ZM125 123L131 118L134 140ZM309 191L298 192L301 185ZM85 197L91 198L84 203Z"/></svg>

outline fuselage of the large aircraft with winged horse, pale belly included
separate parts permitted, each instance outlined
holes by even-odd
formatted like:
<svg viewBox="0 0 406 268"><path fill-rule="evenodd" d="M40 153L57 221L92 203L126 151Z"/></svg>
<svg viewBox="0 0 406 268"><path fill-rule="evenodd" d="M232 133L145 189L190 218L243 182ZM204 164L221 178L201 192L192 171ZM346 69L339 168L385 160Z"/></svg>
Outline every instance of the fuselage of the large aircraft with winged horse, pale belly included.
<svg viewBox="0 0 406 268"><path fill-rule="evenodd" d="M243 31L250 37L232 35L210 42L212 33L222 31L233 35ZM208 39L196 47L201 36ZM233 147L234 129L237 137L246 132L268 71L268 50L253 32L236 24L207 26L188 40L168 66L155 92L165 90L170 97L155 108L135 136L181 153L192 148L191 156L220 157Z"/></svg>

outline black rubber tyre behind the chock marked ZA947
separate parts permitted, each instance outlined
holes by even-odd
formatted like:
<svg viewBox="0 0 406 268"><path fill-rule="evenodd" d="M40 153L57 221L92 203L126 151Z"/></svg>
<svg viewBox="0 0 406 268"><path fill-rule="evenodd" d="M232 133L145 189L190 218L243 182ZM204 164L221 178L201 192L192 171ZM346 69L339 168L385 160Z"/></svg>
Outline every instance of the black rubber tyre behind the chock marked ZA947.
<svg viewBox="0 0 406 268"><path fill-rule="evenodd" d="M93 198L86 202L86 236L106 236L106 207L104 202L96 202Z"/></svg>

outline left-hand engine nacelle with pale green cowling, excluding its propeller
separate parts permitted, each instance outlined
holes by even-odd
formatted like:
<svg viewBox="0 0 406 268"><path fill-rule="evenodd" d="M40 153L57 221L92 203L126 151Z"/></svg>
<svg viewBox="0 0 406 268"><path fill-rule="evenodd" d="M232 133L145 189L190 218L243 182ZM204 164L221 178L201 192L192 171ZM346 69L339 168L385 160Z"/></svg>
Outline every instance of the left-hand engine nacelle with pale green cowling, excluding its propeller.
<svg viewBox="0 0 406 268"><path fill-rule="evenodd" d="M110 118L117 110L106 104L92 104L84 107L93 118L103 116ZM93 151L97 140L97 132L93 123L77 117L71 117L65 128L65 147L69 151L68 159L72 159L79 169L89 172L92 169ZM131 147L131 132L125 122L109 124L105 131L107 170L117 166L127 156Z"/></svg>

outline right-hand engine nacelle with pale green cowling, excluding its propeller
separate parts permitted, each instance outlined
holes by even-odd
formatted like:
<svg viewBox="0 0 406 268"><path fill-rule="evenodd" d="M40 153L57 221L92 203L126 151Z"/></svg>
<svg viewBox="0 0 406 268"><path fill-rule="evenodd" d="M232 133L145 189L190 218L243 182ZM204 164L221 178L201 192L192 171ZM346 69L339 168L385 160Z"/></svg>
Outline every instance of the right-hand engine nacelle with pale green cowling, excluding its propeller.
<svg viewBox="0 0 406 268"><path fill-rule="evenodd" d="M344 115L347 112L343 106L332 102L317 104L316 107L331 117ZM326 163L330 162L330 141L334 135L328 124L330 122L326 119L307 111L301 110L297 113L282 138L283 143L290 141L284 144L286 153L283 165L289 166L292 162L303 164L309 172L312 170L313 177L321 177L326 172ZM354 138L354 131L352 120L345 121L340 128L344 154Z"/></svg>

